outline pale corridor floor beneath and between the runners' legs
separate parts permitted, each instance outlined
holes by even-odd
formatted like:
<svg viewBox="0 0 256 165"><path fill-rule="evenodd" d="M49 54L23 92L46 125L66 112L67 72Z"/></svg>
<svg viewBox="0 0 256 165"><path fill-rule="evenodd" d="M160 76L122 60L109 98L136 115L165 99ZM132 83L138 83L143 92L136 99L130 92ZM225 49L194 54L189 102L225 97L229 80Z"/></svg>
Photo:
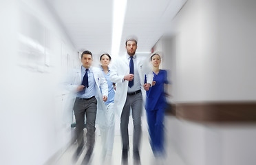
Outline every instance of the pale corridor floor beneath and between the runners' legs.
<svg viewBox="0 0 256 165"><path fill-rule="evenodd" d="M150 145L149 145L149 136L147 133L147 122L145 118L142 118L142 141L141 141L141 149L140 149L140 159L142 165L155 165L155 164L173 164L173 165L184 165L182 162L182 159L180 159L179 155L175 152L175 148L172 147L171 140L169 139L169 135L171 135L171 130L168 130L169 124L171 124L171 120L175 120L172 116L167 116L165 118L165 127L167 128L166 133L166 151L167 151L167 157L162 160L156 160L153 157L153 153L151 151ZM119 126L119 124L116 124L116 126ZM129 123L129 140L130 140L130 147L132 147L132 121ZM117 129L118 131L118 129ZM94 147L94 153L92 155L92 161L90 164L92 165L120 165L121 164L121 137L120 134L116 133L114 140L114 149L113 154L111 157L107 157L105 161L103 162L100 154L101 154L101 146L100 146L100 135L96 131L96 144ZM56 162L54 162L54 165L66 165L66 164L75 164L80 165L82 164L83 157L85 156L85 151L82 153L81 157L78 159L77 162L72 161L72 156L74 155L74 152L76 151L76 146L72 145L69 148L67 148L67 151L59 157ZM158 161L158 162L156 162ZM130 148L129 151L129 159L128 159L129 165L133 164L133 156L132 156L132 148Z"/></svg>

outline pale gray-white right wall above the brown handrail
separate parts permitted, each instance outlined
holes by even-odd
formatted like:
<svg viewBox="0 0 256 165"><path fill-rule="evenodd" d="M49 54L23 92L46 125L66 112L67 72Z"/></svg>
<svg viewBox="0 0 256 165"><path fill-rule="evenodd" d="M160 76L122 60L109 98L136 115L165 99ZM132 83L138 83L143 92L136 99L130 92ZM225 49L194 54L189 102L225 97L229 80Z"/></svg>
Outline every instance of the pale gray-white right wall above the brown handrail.
<svg viewBox="0 0 256 165"><path fill-rule="evenodd" d="M176 17L177 101L255 100L254 1L188 1Z"/></svg>

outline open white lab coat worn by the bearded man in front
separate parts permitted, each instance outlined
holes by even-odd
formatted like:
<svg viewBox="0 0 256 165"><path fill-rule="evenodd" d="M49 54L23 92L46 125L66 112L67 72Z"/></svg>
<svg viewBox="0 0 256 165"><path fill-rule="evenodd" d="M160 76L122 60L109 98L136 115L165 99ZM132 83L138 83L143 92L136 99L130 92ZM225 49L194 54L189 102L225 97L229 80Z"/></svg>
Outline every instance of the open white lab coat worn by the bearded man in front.
<svg viewBox="0 0 256 165"><path fill-rule="evenodd" d="M153 73L151 65L149 65L149 60L144 57L136 56L136 63L134 63L138 69L138 74L140 76L140 85L142 89L142 94L144 90L145 74L147 75L147 82L152 84ZM110 80L116 83L116 94L115 94L115 106L116 113L120 116L122 114L122 108L125 105L127 91L128 91L128 81L123 81L125 75L129 74L129 60L127 56L122 56L116 58L109 64Z"/></svg>

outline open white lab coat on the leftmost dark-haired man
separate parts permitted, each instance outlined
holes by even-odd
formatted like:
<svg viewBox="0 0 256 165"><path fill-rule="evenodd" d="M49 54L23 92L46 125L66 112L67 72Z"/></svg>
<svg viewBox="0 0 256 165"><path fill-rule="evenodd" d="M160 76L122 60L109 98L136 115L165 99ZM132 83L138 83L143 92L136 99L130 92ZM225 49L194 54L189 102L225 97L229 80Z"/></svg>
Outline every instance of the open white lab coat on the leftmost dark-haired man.
<svg viewBox="0 0 256 165"><path fill-rule="evenodd" d="M106 111L106 106L103 101L103 96L108 96L108 87L107 87L107 81L103 75L103 72L101 69L97 67L91 67L92 72L94 73L94 80L96 82L96 96L97 99L97 113L100 113L100 111ZM72 122L73 118L73 107L74 107L74 101L76 100L76 88L81 85L81 69L74 69L70 74L68 74L67 78L65 78L64 87L67 91L70 91L69 94L67 94L67 100L64 107L64 116L67 119L67 116L69 119L66 120L68 122ZM101 91L100 91L101 88ZM97 119L96 120L104 120L104 119Z"/></svg>

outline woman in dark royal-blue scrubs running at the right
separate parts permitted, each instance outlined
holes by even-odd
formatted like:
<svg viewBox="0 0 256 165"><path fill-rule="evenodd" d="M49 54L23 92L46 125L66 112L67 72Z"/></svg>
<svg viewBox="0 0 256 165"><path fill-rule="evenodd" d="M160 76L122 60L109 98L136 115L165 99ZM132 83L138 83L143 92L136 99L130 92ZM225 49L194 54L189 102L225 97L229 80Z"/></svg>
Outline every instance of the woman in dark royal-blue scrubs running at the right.
<svg viewBox="0 0 256 165"><path fill-rule="evenodd" d="M153 65L153 83L149 91L146 91L145 108L152 151L155 156L162 156L164 154L164 109L167 106L164 84L168 84L167 71L159 69L161 63L159 54L153 54L150 61Z"/></svg>

